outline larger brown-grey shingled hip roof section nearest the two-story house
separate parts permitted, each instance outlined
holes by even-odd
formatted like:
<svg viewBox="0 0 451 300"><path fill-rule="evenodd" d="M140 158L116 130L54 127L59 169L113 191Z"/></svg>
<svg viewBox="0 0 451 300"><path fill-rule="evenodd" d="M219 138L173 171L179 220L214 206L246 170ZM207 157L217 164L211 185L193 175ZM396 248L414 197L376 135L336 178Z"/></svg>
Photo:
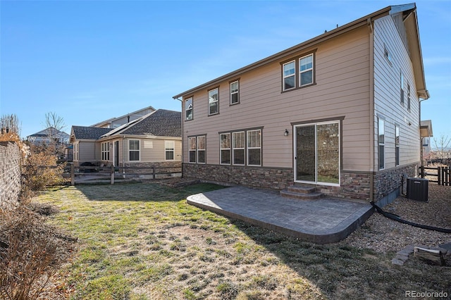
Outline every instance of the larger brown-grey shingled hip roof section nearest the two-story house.
<svg viewBox="0 0 451 300"><path fill-rule="evenodd" d="M182 113L159 109L128 127L121 135L155 135L157 137L182 137Z"/></svg>

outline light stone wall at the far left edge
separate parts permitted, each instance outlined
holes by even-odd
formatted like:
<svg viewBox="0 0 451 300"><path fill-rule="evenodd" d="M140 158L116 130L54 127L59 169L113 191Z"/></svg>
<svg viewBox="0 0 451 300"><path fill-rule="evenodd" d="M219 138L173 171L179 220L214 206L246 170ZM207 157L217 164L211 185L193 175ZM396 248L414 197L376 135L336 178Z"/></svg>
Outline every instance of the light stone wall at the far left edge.
<svg viewBox="0 0 451 300"><path fill-rule="evenodd" d="M0 208L16 206L20 195L20 149L0 142Z"/></svg>

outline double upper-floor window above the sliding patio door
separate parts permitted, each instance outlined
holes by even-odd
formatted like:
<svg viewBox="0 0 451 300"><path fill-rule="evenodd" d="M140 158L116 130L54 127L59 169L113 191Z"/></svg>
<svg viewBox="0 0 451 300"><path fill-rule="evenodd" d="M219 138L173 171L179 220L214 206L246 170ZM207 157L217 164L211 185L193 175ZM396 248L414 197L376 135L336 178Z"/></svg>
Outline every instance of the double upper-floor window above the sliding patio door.
<svg viewBox="0 0 451 300"><path fill-rule="evenodd" d="M296 71L297 70L297 71ZM295 58L282 65L282 90L299 89L315 83L314 53Z"/></svg>

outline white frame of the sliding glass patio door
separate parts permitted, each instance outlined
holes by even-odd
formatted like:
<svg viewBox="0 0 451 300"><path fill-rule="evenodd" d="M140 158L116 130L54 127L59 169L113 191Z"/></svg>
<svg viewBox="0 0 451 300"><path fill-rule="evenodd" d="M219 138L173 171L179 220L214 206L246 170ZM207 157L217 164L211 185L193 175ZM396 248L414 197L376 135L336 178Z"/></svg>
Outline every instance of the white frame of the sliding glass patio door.
<svg viewBox="0 0 451 300"><path fill-rule="evenodd" d="M306 183L310 185L329 185L334 187L340 187L340 179L341 179L341 168L342 168L342 157L341 157L341 150L342 150L342 120L344 117L339 118L333 118L333 119L327 119L327 120L310 120L309 122L303 122L303 123L292 123L292 136L293 136L293 175L294 175L294 182L299 183ZM317 126L318 125L329 125L329 124L338 124L338 183L333 182L321 182L318 181L318 135L317 135ZM309 180L297 180L297 128L298 127L307 127L307 126L314 126L314 151L315 151L315 161L314 161L314 181Z"/></svg>

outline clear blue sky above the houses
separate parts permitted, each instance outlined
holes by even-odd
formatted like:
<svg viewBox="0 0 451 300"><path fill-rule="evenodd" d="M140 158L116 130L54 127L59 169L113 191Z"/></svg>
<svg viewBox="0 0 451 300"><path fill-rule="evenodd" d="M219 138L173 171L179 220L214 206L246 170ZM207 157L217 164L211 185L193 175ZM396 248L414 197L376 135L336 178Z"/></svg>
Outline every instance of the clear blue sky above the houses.
<svg viewBox="0 0 451 300"><path fill-rule="evenodd" d="M89 126L172 96L409 1L0 0L0 115L26 137L45 114ZM421 118L451 137L451 1L417 1L426 85Z"/></svg>

